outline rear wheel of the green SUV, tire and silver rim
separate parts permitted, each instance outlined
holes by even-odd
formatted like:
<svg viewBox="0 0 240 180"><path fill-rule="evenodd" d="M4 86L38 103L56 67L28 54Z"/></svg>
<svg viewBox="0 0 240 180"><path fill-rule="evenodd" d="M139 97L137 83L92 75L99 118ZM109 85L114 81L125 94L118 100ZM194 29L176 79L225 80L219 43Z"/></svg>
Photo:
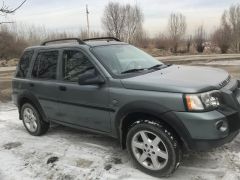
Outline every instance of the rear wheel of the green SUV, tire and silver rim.
<svg viewBox="0 0 240 180"><path fill-rule="evenodd" d="M33 105L29 103L24 104L21 107L21 115L23 125L29 134L41 136L48 131L49 123L42 120L41 115Z"/></svg>

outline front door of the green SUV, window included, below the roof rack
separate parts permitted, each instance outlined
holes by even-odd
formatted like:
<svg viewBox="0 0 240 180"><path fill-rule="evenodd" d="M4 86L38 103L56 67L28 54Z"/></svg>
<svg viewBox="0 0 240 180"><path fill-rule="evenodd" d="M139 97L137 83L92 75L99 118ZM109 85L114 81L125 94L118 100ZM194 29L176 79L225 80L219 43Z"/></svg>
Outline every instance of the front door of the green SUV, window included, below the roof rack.
<svg viewBox="0 0 240 180"><path fill-rule="evenodd" d="M59 85L59 118L64 123L110 131L109 90L104 85L79 85L78 77L95 68L82 51L63 50Z"/></svg>

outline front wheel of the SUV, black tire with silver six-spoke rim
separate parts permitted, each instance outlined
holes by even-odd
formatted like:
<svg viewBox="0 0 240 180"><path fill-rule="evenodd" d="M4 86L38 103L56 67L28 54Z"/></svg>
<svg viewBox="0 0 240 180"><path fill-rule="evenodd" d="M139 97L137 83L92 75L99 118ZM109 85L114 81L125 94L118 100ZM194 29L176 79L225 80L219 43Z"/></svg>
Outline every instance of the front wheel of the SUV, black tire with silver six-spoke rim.
<svg viewBox="0 0 240 180"><path fill-rule="evenodd" d="M168 177L180 165L182 151L177 137L154 121L135 123L128 131L126 143L136 167L151 176Z"/></svg>

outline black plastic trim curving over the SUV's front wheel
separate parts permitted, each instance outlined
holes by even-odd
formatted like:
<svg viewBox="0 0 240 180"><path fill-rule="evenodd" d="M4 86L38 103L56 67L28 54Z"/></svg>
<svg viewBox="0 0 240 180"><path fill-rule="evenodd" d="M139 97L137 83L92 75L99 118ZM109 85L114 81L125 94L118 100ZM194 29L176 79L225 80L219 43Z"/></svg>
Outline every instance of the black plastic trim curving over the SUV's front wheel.
<svg viewBox="0 0 240 180"><path fill-rule="evenodd" d="M116 133L121 146L123 146L122 125L124 119L132 113L144 113L160 119L177 133L179 138L183 141L185 147L189 149L189 143L191 143L192 140L191 135L181 120L169 108L166 108L158 103L147 101L136 101L123 106L119 111L117 111L115 116L115 130L117 131Z"/></svg>

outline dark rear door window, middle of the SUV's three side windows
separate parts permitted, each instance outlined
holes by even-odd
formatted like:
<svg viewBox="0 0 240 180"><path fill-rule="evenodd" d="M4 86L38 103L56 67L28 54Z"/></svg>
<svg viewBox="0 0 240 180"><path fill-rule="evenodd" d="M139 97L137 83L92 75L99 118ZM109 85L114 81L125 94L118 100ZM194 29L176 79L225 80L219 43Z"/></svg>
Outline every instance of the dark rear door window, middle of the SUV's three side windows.
<svg viewBox="0 0 240 180"><path fill-rule="evenodd" d="M58 51L40 52L33 66L32 77L56 79Z"/></svg>

